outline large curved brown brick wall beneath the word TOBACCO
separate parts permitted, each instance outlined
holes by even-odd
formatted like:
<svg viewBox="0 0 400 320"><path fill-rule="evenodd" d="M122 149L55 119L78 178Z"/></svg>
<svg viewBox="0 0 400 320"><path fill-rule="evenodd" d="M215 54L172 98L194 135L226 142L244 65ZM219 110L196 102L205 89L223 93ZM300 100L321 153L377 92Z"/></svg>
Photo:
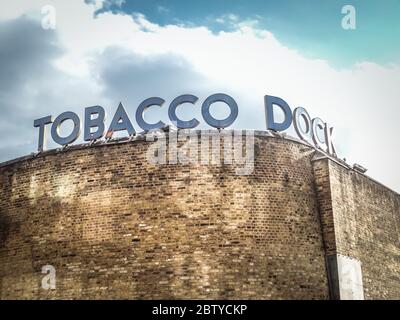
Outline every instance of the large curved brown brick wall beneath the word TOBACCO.
<svg viewBox="0 0 400 320"><path fill-rule="evenodd" d="M150 165L144 141L1 167L0 297L328 298L314 150L255 142L249 176Z"/></svg>

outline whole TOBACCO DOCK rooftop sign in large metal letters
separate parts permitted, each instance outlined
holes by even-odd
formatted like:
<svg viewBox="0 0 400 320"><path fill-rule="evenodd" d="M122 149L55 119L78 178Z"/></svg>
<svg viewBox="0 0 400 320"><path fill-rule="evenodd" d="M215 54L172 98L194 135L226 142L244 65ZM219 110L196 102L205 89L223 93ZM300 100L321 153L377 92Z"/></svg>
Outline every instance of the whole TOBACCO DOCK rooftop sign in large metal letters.
<svg viewBox="0 0 400 320"><path fill-rule="evenodd" d="M200 122L193 118L191 120L182 120L176 114L178 106L184 103L196 104L199 100L198 97L190 94L184 94L175 98L168 107L168 116L178 129L193 129L196 128ZM225 103L229 109L230 114L225 119L216 119L210 113L210 107L215 102ZM157 123L148 123L144 119L144 113L150 107L162 107L165 100L159 97L152 97L144 100L137 108L135 113L136 123L144 131L152 131L162 129L166 124L162 121ZM336 156L336 151L332 142L332 130L327 123L320 118L311 119L308 112L298 107L292 112L289 105L281 98L274 96L265 96L265 118L267 130L284 131L287 130L293 123L294 129L301 140L313 143L315 147L327 152L332 156ZM274 113L279 108L283 112L283 120L278 122ZM231 126L239 114L239 108L236 101L229 95L217 93L205 99L201 105L201 114L203 120L211 127L223 129ZM68 136L60 135L60 128L62 124L70 120L74 126ZM122 103L119 104L111 123L106 131L105 127L106 112L101 106L91 106L85 108L85 118L83 122L83 139L87 142L94 142L96 140L105 138L111 139L115 132L126 131L128 136L136 135L129 116L123 107ZM51 125L51 126L50 126ZM82 121L79 116L71 111L60 114L55 119L52 116L46 116L34 121L34 127L39 128L39 142L38 151L45 150L46 145L46 129L47 126L51 128L51 137L53 141L61 146L67 146L74 143L81 134Z"/></svg>

